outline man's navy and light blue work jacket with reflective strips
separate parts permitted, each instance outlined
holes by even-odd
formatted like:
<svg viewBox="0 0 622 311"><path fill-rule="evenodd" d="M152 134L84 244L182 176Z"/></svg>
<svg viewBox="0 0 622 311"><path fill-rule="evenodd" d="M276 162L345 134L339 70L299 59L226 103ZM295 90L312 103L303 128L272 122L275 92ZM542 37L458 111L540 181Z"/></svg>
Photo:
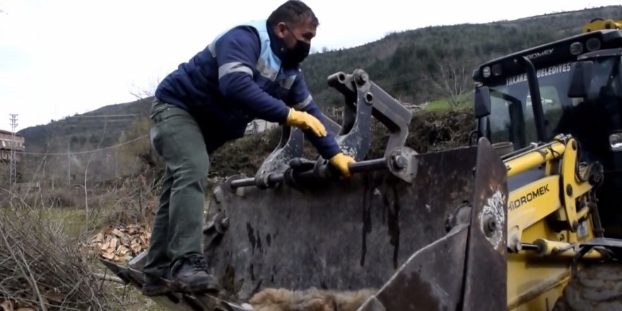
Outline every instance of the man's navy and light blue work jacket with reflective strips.
<svg viewBox="0 0 622 311"><path fill-rule="evenodd" d="M242 137L253 119L285 123L289 107L326 124L300 64L282 66L286 52L266 20L237 25L166 76L155 97L189 111L204 131L210 152ZM334 133L317 137L305 131L305 136L323 158L340 152Z"/></svg>

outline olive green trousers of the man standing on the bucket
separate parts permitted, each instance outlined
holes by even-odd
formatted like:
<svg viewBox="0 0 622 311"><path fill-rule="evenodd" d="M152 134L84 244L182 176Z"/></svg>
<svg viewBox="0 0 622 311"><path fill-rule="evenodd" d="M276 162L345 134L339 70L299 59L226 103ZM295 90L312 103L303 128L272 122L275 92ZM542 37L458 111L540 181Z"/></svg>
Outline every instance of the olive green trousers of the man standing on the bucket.
<svg viewBox="0 0 622 311"><path fill-rule="evenodd" d="M186 110L153 101L151 145L166 170L143 273L164 276L178 259L203 254L209 154L199 124Z"/></svg>

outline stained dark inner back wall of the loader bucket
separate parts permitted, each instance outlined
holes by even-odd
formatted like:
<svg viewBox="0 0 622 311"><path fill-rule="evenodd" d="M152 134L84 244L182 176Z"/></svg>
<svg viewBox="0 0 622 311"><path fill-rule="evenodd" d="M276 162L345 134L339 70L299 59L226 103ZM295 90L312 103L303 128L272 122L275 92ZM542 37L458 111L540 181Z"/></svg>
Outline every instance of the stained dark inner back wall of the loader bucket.
<svg viewBox="0 0 622 311"><path fill-rule="evenodd" d="M262 287L380 288L416 250L447 234L445 222L473 189L475 148L416 155L412 183L390 172L243 193L220 186L206 259L229 295ZM230 181L235 180L233 177Z"/></svg>

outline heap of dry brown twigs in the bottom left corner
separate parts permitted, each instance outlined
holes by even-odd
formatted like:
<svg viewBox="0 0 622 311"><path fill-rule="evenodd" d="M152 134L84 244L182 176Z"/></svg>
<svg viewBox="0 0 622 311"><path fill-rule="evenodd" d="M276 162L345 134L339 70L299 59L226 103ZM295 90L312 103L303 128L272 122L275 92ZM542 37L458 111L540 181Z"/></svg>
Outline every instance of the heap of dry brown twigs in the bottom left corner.
<svg viewBox="0 0 622 311"><path fill-rule="evenodd" d="M115 296L49 211L10 206L0 223L2 300L42 311L112 310Z"/></svg>

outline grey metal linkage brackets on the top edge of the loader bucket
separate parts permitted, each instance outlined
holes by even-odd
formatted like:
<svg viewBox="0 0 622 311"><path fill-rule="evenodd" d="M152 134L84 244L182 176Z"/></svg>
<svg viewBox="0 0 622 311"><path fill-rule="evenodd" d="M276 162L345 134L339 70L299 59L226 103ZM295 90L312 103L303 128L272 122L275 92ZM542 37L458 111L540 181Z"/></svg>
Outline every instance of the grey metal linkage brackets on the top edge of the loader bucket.
<svg viewBox="0 0 622 311"><path fill-rule="evenodd" d="M404 146L412 113L370 81L363 69L356 69L353 74L339 71L329 76L327 83L344 95L343 124L339 126L329 117L324 117L329 131L336 133L341 150L358 162L351 167L351 171L356 173L380 169L379 163L385 163L385 158L391 157L394 148ZM389 139L385 146L385 158L364 161L371 146L372 117L389 129ZM335 177L336 171L331 168L328 160L322 157L316 161L303 158L303 139L304 134L300 129L283 126L281 141L264 160L254 178L235 180L230 182L230 186L267 189L284 181L293 184L301 178ZM386 168L386 165L382 168Z"/></svg>

